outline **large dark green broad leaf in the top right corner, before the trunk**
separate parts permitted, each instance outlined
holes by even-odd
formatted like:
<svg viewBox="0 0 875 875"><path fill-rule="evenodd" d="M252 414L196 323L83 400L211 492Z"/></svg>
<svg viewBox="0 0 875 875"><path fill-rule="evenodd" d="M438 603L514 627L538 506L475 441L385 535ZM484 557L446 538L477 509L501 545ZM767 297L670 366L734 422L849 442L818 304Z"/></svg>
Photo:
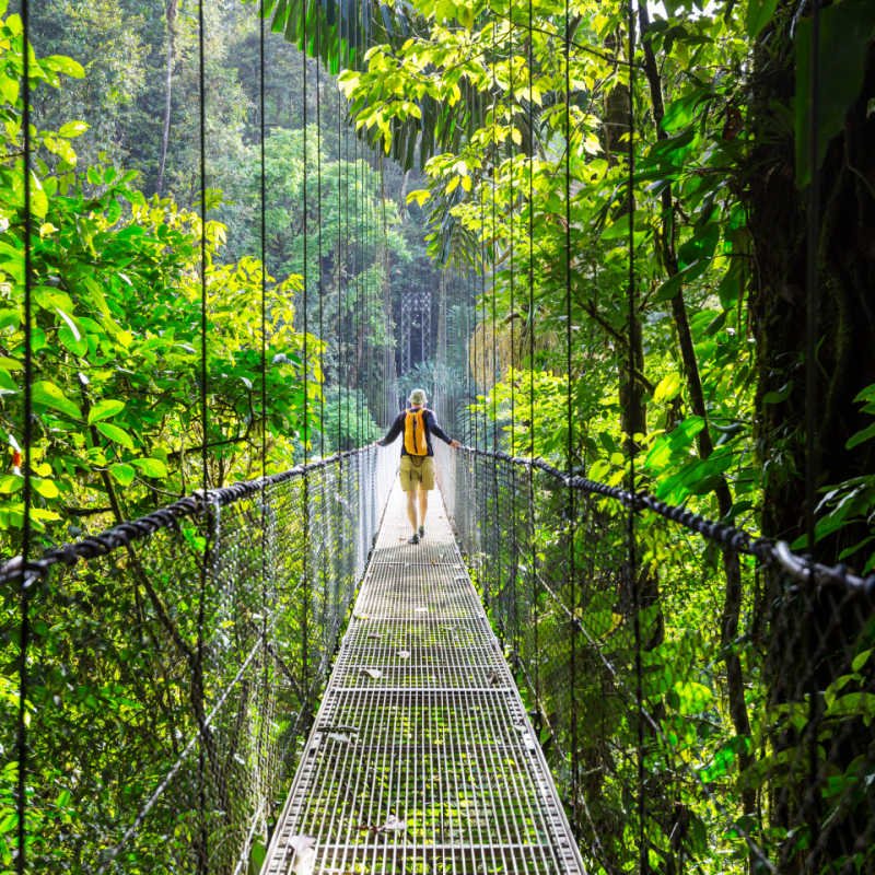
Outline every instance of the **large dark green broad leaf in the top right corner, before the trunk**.
<svg viewBox="0 0 875 875"><path fill-rule="evenodd" d="M870 43L875 38L875 3L844 0L820 10L818 40L817 166L824 162L829 141L844 127L851 105L860 96ZM796 31L796 184L812 180L812 21Z"/></svg>

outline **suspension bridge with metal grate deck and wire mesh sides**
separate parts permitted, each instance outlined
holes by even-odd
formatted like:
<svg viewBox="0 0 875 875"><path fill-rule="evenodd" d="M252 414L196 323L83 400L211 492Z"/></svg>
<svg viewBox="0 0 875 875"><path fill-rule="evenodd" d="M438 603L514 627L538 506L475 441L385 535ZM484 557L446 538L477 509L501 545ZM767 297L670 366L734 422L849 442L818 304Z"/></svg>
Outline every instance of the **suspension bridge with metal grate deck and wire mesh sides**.
<svg viewBox="0 0 875 875"><path fill-rule="evenodd" d="M663 860L699 847L780 872L786 839L765 828L779 810L817 836L807 853L865 859L870 760L847 749L868 725L868 652L825 633L815 665L838 662L847 679L810 716L813 679L791 663L808 646L800 603L860 621L872 580L535 459L439 455L446 512L432 508L418 546L389 495L395 448L370 447L2 569L4 583L24 574L35 617L80 627L59 651L37 625L28 653L27 762L54 775L26 800L39 868L574 873L638 853L646 826ZM719 621L716 594L685 581L676 555L658 609L634 604L630 512L783 581L736 640L749 676L770 660L785 673L782 702L749 703L760 749L730 728L728 686L709 685L720 632L685 627L692 603ZM178 609L199 598L199 616ZM110 628L119 600L128 621ZM71 732L82 720L84 738ZM837 806L816 833L814 767ZM731 793L739 773L752 815Z"/></svg>

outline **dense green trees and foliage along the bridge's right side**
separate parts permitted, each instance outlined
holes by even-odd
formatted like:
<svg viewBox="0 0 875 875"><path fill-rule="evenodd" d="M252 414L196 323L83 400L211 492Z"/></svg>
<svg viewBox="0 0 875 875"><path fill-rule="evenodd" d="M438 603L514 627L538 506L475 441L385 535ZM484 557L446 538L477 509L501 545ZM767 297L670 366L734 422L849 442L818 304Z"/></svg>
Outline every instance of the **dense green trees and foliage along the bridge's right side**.
<svg viewBox="0 0 875 875"><path fill-rule="evenodd" d="M861 415L875 378L873 323L864 303L872 275L862 267L870 261L859 238L838 230L848 209L865 215L867 228L873 219L872 190L851 166L859 160L871 168L862 155L875 141L875 91L864 73L873 58L871 7L839 2L824 12L816 167L805 145L812 124L806 110L812 26L791 4L681 1L654 10L533 0L421 2L392 10L382 43L360 52L339 81L375 147L422 161L429 185L409 199L430 211L433 254L476 265L487 277L475 310L478 325L467 338L481 393L472 422L478 443L488 444L500 428L502 448L512 453L634 486L723 523L761 526L772 537L795 540L797 548L806 546L807 513L816 538L808 546L817 556L872 570L873 458L866 447L872 427ZM294 19L294 11L287 14ZM841 27L855 34L853 46L842 43ZM842 141L850 149L844 156ZM825 192L822 225L820 215L810 218L805 190L816 171ZM801 316L806 307L812 312L804 300L806 228L815 229L818 246L828 253L814 262L820 283L808 335L814 340L806 340ZM810 365L818 350L819 364ZM815 435L807 446L806 434ZM806 498L812 485L815 497ZM549 506L549 495L539 500ZM501 505L500 497L495 501ZM498 508L485 513L506 525ZM544 514L551 527L570 512ZM594 526L568 525L572 534L564 537L548 529L535 534L533 550L544 574L562 561L572 574L574 568L591 569L591 575L622 568L622 551L610 556L612 541L599 542L605 567L593 568ZM703 861L715 849L700 829L704 808L682 802L685 792L669 777L675 766L656 752L658 745L651 746L651 734L678 739L680 757L692 758L709 775L723 780L734 773L734 786L724 788L740 813L733 830L749 838L745 818L772 792L763 783L768 769L800 752L801 735L820 732L814 723L791 728L789 711L781 710L792 710L788 703L804 696L788 673L815 672L791 642L807 635L820 642L815 650L826 648L829 631L812 602L790 599L786 610L797 631L789 631L790 623L775 632L785 651L745 655L748 618L763 604L784 604L780 575L772 576L763 603L732 552L693 547L689 564L680 565L661 526L642 524L639 534L634 581L620 575L600 588L584 582L575 588L573 580L549 578L564 610L596 618L591 628L600 629L598 617L610 610L620 629L640 630L634 646L627 637L619 650L594 656L584 674L597 672L603 658L620 665L639 658L649 676L682 676L684 642L702 623L713 630L705 652L720 660L687 676L685 691L670 680L644 690L648 795L655 813L640 838L588 832L594 825L587 818L617 828L628 822L623 793L631 773L619 783L590 786L580 803L584 807L576 808L578 800L572 805L593 847L617 842L597 856L607 871L635 865L635 853L646 856L644 847L650 865L674 871L680 860ZM517 560L506 557L509 542L513 539L502 529L498 555L486 561L506 561L504 581L514 581ZM574 559L563 560L567 556ZM493 569L487 573L501 579ZM690 575L701 579L695 593L685 580ZM633 609L634 604L646 607ZM549 622L553 609L541 608ZM818 682L830 689L848 682L852 661L865 664L872 635L860 606L835 610L842 617L843 642L826 661L829 668L818 669ZM561 635L561 617L560 609L553 618L560 627L548 629L541 641ZM529 672L522 677L530 681L533 665L540 664L567 680L568 653L575 648L573 630L567 634L568 650L556 662L540 652L525 654ZM555 742L564 756L599 772L596 750L622 748L623 737L640 749L635 733L642 730L626 715L605 714L594 684L593 709L580 713L592 716L604 735L580 732L575 742L561 715L571 704L562 697L588 695L584 681L579 684L560 680L538 707L560 715ZM698 691L695 702L685 699L690 690ZM767 699L783 704L751 721ZM702 725L690 734L686 719L707 711L705 700L721 702L721 728L712 735L713 726ZM866 707L849 719L865 724ZM863 747L836 752L840 733L849 731L850 724L833 726L818 737L831 739L824 740L831 751L825 761L853 771L849 763L862 761L854 755L864 757ZM770 749L771 765L755 767L751 751L761 745ZM558 768L568 779L564 765ZM662 792L663 802L656 802ZM804 795L800 788L777 792ZM830 795L826 788L824 795ZM679 806L674 814L673 804ZM825 798L824 817L838 818L845 841L835 835L824 839L829 848L813 852L815 867L830 854L841 864L853 858L853 828L831 804ZM591 807L584 810L585 805ZM808 840L786 831L797 813L793 802L769 810L773 837L785 842L775 852L783 860ZM686 837L679 844L678 836ZM638 851L631 850L634 844ZM853 860L865 865L862 858Z"/></svg>

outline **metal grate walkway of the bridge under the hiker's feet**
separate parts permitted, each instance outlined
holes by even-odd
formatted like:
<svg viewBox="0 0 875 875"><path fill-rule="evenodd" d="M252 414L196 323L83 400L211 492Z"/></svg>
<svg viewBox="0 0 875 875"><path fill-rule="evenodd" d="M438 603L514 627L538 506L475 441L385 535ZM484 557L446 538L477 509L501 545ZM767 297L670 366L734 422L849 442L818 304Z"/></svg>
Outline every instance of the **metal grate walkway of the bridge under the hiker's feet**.
<svg viewBox="0 0 875 875"><path fill-rule="evenodd" d="M377 544L264 873L582 873L438 492Z"/></svg>

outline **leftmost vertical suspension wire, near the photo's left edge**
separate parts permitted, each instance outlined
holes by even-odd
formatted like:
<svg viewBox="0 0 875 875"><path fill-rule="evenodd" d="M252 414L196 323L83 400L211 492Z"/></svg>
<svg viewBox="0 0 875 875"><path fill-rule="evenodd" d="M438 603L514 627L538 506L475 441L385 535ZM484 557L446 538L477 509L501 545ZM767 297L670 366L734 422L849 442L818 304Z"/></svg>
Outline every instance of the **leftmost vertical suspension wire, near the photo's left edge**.
<svg viewBox="0 0 875 875"><path fill-rule="evenodd" d="M28 0L21 2L21 44L22 44L22 168L24 173L24 205L23 223L24 233L24 398L22 441L22 544L21 544L21 582L19 584L19 712L15 730L15 756L18 760L18 775L15 786L15 810L18 814L16 856L15 868L19 875L24 875L27 870L27 770L30 767L27 750L27 697L30 695L30 674L27 658L31 648L31 576L28 563L33 529L31 514L33 511L33 480L31 472L31 445L33 444L33 382L34 382L34 349L33 349L33 252L31 249L31 232L33 217L31 215L31 159L33 141L31 138L31 4Z"/></svg>

